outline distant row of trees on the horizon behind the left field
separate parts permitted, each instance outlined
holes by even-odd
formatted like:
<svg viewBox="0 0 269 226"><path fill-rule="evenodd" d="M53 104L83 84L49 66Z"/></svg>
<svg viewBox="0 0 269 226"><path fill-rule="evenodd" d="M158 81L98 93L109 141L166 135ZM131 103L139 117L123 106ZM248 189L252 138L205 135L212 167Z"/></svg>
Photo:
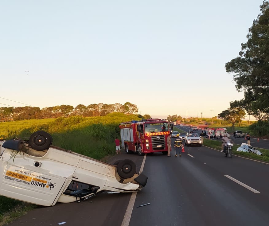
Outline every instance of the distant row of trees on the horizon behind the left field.
<svg viewBox="0 0 269 226"><path fill-rule="evenodd" d="M70 116L105 116L112 112L120 112L124 114L137 114L137 105L126 102L124 104L106 104L94 103L88 106L79 104L76 107L71 105L57 105L54 107L0 107L0 120L6 122L10 120L26 120L26 119L48 119Z"/></svg>

